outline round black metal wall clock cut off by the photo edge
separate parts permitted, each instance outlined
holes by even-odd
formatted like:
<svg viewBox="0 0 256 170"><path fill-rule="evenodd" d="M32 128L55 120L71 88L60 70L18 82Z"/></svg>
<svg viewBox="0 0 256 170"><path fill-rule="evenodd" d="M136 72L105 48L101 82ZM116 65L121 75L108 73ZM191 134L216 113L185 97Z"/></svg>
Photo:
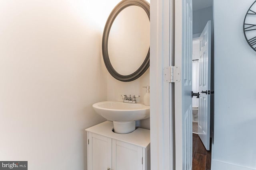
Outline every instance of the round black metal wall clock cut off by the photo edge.
<svg viewBox="0 0 256 170"><path fill-rule="evenodd" d="M250 6L244 18L244 37L256 51L256 1Z"/></svg>

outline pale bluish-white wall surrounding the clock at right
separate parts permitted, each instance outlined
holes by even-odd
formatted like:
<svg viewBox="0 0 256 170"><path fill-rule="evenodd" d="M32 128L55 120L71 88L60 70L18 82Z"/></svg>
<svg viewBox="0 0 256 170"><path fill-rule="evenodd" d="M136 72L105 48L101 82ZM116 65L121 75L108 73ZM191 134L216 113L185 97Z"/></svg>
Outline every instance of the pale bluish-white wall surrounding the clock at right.
<svg viewBox="0 0 256 170"><path fill-rule="evenodd" d="M256 169L256 52L243 34L244 17L253 2L214 1L212 170Z"/></svg>

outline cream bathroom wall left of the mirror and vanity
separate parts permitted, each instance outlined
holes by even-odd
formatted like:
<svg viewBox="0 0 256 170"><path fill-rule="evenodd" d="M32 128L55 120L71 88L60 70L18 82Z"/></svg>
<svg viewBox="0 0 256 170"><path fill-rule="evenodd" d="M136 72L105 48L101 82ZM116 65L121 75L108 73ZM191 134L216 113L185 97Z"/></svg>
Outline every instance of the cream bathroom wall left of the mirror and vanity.
<svg viewBox="0 0 256 170"><path fill-rule="evenodd" d="M0 1L0 160L86 170L84 129L105 121L101 34L117 2Z"/></svg>

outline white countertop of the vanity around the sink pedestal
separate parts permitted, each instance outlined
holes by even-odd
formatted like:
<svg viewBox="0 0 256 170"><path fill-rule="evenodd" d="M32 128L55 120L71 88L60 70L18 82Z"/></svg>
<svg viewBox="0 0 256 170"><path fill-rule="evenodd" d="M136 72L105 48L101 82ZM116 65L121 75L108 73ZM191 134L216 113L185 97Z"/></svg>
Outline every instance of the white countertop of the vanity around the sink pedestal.
<svg viewBox="0 0 256 170"><path fill-rule="evenodd" d="M150 144L150 130L148 129L138 128L132 133L118 134L112 131L113 128L113 122L104 121L98 125L89 127L85 130L91 133L96 133L98 135L130 143L132 145L137 145L143 148L146 148Z"/></svg>

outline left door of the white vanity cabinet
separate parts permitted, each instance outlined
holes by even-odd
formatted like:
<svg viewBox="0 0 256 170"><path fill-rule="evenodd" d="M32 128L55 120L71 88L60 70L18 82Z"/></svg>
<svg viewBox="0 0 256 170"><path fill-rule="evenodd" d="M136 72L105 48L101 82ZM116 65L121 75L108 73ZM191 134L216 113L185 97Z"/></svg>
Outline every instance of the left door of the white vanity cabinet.
<svg viewBox="0 0 256 170"><path fill-rule="evenodd" d="M111 169L112 139L90 132L88 139L88 170Z"/></svg>

